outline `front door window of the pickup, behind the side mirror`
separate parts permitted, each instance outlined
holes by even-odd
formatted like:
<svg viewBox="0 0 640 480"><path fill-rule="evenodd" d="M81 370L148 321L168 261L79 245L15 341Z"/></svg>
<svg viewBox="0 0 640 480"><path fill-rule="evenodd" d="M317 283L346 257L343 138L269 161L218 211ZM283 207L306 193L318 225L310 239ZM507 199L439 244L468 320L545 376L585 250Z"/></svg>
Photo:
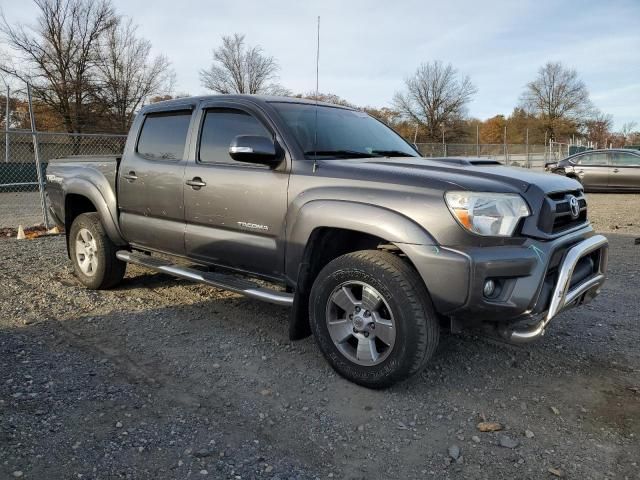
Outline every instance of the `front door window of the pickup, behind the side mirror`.
<svg viewBox="0 0 640 480"><path fill-rule="evenodd" d="M229 145L238 135L273 135L252 115L233 108L207 110L200 134L198 160L201 163L234 163L229 156Z"/></svg>

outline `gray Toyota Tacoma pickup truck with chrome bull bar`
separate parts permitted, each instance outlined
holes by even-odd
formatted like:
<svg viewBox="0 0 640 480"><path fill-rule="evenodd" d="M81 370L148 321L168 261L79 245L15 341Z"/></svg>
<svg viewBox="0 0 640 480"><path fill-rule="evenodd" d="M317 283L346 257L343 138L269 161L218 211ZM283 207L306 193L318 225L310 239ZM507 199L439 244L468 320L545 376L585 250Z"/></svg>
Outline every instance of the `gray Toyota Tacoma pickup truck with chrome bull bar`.
<svg viewBox="0 0 640 480"><path fill-rule="evenodd" d="M426 159L365 113L300 99L146 106L122 155L51 162L47 194L88 288L133 263L290 306L290 337L372 388L420 372L442 327L531 341L605 279L575 180Z"/></svg>

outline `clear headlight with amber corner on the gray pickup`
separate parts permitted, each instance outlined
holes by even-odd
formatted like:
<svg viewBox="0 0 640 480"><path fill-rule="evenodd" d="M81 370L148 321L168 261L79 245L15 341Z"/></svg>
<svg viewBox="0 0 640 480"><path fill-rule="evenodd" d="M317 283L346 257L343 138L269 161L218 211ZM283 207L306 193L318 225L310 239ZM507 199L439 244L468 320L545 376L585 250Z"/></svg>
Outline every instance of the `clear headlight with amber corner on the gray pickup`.
<svg viewBox="0 0 640 480"><path fill-rule="evenodd" d="M520 219L531 215L513 193L447 192L445 200L458 223L478 235L510 237Z"/></svg>

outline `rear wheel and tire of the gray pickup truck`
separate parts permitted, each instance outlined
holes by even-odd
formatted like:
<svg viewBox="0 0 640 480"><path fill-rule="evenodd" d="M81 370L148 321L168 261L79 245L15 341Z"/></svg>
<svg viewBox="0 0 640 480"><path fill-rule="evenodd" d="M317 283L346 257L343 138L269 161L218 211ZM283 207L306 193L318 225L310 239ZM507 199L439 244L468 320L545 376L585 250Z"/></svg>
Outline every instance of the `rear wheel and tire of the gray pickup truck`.
<svg viewBox="0 0 640 480"><path fill-rule="evenodd" d="M85 287L105 290L120 283L127 264L116 258L116 251L97 213L76 217L69 231L69 253L76 277Z"/></svg>

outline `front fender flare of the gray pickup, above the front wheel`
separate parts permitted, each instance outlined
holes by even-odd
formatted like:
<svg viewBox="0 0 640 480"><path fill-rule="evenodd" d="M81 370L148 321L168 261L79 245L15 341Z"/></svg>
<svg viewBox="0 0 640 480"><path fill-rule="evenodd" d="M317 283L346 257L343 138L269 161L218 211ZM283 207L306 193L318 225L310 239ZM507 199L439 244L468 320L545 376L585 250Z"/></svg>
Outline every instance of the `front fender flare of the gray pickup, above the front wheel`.
<svg viewBox="0 0 640 480"><path fill-rule="evenodd" d="M433 237L410 218L384 207L345 200L311 200L292 212L287 234L285 273L297 281L309 238L318 228L353 230L390 243L435 245Z"/></svg>

